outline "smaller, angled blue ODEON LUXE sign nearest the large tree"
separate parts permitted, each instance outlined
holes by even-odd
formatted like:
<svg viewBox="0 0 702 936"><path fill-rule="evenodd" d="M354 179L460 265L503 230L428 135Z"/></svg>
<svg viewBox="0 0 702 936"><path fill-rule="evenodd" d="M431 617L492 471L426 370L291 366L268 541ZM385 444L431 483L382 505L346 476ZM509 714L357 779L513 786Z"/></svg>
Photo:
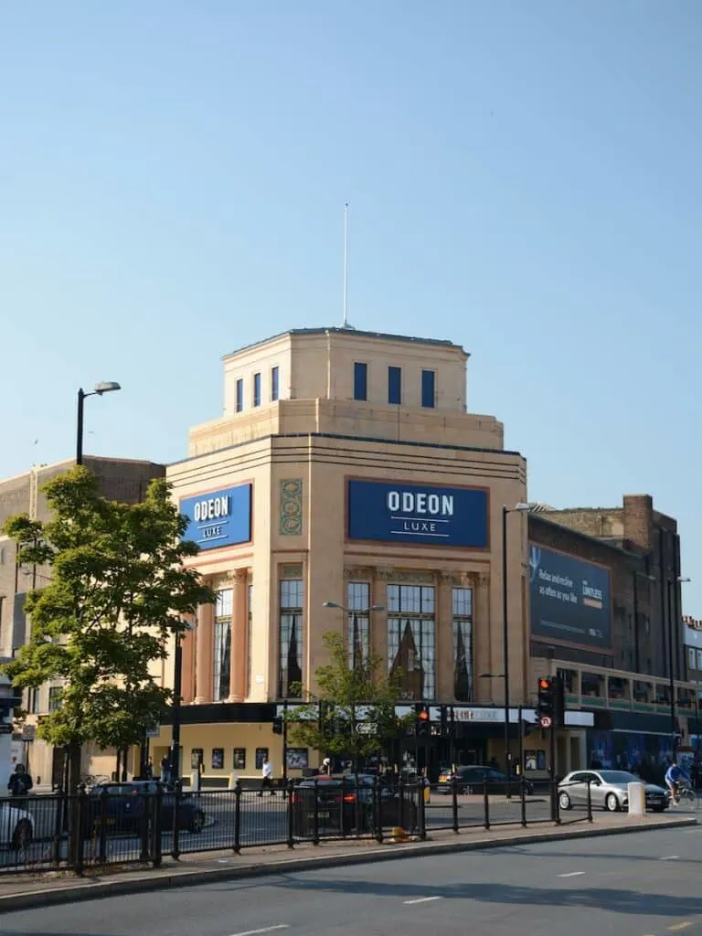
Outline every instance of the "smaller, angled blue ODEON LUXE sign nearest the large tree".
<svg viewBox="0 0 702 936"><path fill-rule="evenodd" d="M184 539L201 549L251 542L251 485L183 497L181 513L190 520Z"/></svg>

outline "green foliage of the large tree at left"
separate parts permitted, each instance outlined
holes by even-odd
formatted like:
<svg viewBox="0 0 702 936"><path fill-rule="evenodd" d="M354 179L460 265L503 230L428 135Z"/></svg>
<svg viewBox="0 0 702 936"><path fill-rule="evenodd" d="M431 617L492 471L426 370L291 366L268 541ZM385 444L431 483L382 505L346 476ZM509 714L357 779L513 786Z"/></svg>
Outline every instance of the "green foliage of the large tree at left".
<svg viewBox="0 0 702 936"><path fill-rule="evenodd" d="M51 566L49 583L27 595L29 641L4 668L22 689L61 680L39 738L124 748L168 706L154 663L183 633L183 617L214 595L196 570L183 567L198 547L181 538L187 519L165 480L152 481L137 505L101 496L82 466L43 490L50 520L18 515L3 527L18 544L19 562Z"/></svg>

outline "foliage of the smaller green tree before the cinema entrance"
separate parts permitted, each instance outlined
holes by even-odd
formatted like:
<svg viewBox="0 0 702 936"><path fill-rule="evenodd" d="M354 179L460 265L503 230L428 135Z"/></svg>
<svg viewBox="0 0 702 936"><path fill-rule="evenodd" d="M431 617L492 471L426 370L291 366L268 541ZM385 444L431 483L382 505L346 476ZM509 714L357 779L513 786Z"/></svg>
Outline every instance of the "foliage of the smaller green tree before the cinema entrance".
<svg viewBox="0 0 702 936"><path fill-rule="evenodd" d="M330 631L322 640L329 664L314 673L318 694L308 693L302 704L288 709L290 737L320 753L348 758L358 769L360 760L388 751L413 724L414 713L396 715L401 674L388 678L382 657L371 654L354 666L343 635ZM302 687L291 687L291 695L302 697ZM358 731L359 724L366 730Z"/></svg>

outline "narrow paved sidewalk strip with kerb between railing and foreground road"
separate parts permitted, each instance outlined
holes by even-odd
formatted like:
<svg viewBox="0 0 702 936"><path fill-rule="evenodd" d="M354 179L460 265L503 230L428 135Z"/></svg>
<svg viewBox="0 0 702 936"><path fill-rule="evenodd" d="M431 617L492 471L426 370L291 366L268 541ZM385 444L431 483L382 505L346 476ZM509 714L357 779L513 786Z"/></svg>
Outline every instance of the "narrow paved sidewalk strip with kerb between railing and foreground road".
<svg viewBox="0 0 702 936"><path fill-rule="evenodd" d="M163 866L113 867L106 870L86 870L78 878L66 871L41 874L13 874L0 880L0 914L30 907L68 903L159 890L166 887L201 885L241 877L314 870L320 865L333 866L383 861L402 856L446 854L480 848L505 847L513 843L580 839L593 836L620 835L648 831L654 828L676 828L696 825L695 817L641 816L613 814L597 816L594 822L578 822L555 826L552 823L529 826L493 826L431 833L427 841L405 843L376 841L335 841L319 845L300 844L294 849L271 846L246 850L241 855L231 852L204 853L184 856L179 862L165 857Z"/></svg>

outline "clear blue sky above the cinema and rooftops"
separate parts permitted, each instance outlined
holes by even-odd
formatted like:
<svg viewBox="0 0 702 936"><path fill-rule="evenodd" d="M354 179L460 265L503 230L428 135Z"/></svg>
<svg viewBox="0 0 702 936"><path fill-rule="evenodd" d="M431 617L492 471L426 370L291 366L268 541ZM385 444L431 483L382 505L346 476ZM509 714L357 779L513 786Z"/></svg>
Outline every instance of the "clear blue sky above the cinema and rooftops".
<svg viewBox="0 0 702 936"><path fill-rule="evenodd" d="M530 496L680 520L702 615L698 0L22 0L0 10L0 476L174 461L220 355L449 338Z"/></svg>

